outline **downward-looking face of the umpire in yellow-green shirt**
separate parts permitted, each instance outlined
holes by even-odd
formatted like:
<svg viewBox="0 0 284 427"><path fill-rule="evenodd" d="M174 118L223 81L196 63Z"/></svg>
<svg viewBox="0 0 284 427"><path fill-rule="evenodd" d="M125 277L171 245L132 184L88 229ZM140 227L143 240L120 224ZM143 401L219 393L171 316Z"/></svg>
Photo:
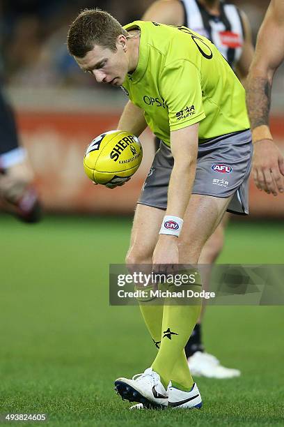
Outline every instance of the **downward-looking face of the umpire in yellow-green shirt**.
<svg viewBox="0 0 284 427"><path fill-rule="evenodd" d="M113 52L108 48L95 45L84 58L75 57L75 60L79 67L92 74L97 82L120 86L128 72L128 61L123 45L117 43L116 47L116 52Z"/></svg>

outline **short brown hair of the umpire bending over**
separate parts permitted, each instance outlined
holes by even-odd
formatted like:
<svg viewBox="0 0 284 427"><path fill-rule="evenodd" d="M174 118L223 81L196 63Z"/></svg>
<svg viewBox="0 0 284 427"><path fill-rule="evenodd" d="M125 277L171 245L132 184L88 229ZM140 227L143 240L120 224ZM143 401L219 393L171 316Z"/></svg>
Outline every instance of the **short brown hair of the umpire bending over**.
<svg viewBox="0 0 284 427"><path fill-rule="evenodd" d="M95 45L116 51L116 40L120 34L128 33L110 13L95 9L85 9L70 25L67 44L70 54L84 58Z"/></svg>

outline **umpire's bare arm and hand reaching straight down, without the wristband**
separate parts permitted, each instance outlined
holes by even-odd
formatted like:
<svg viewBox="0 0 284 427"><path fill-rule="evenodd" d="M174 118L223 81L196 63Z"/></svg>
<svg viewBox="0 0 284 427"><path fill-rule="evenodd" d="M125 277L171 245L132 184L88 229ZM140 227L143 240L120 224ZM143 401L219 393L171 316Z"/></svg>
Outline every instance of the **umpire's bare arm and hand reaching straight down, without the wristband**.
<svg viewBox="0 0 284 427"><path fill-rule="evenodd" d="M168 184L166 215L183 218L189 204L196 174L198 128L199 123L196 123L171 132L174 165ZM178 238L160 234L153 254L153 264L178 264L178 262Z"/></svg>

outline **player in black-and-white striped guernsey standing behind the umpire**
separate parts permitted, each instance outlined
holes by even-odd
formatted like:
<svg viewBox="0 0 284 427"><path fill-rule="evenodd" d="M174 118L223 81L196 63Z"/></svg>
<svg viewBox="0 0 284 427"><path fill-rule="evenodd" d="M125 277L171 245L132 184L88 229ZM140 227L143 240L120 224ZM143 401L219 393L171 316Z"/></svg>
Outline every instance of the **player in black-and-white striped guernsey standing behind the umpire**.
<svg viewBox="0 0 284 427"><path fill-rule="evenodd" d="M184 25L209 38L235 70L239 80L244 83L253 58L253 44L248 19L237 6L220 0L157 0L144 13L142 19L167 25ZM131 107L129 104L129 108ZM156 150L159 149L160 142L155 138ZM203 247L200 264L210 266L219 256L223 248L224 227L228 216L226 213ZM210 270L208 267L203 273L203 287L206 291L210 287ZM221 366L216 357L204 351L201 324L205 307L203 301L198 323L185 347L191 373L214 378L239 376L239 370Z"/></svg>

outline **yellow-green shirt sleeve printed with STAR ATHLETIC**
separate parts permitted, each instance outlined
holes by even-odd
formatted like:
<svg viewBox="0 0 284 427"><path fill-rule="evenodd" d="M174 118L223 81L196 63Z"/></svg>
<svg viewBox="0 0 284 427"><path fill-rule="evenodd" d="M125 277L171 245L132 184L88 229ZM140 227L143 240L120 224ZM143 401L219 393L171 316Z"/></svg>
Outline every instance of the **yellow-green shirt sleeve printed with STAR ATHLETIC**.
<svg viewBox="0 0 284 427"><path fill-rule="evenodd" d="M168 107L171 130L186 128L205 119L200 73L190 61L180 59L166 66L161 75L160 91Z"/></svg>

